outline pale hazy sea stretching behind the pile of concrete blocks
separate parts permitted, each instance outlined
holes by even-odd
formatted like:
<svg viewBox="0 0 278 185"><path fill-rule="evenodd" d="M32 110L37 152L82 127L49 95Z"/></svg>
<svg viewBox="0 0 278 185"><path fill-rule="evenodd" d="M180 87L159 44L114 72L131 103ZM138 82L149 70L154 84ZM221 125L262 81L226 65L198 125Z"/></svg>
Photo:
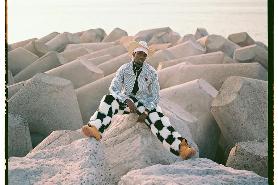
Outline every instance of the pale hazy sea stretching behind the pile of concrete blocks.
<svg viewBox="0 0 278 185"><path fill-rule="evenodd" d="M76 33L119 27L128 35L170 27L181 37L198 27L209 34L247 32L267 45L267 0L12 0L8 1L8 43L53 31Z"/></svg>

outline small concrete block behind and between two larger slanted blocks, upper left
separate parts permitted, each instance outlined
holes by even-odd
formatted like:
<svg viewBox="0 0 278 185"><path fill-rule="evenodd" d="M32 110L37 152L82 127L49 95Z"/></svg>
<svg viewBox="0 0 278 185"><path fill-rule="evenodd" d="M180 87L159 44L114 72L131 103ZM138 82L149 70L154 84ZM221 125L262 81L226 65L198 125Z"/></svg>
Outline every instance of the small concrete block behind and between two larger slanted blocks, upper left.
<svg viewBox="0 0 278 185"><path fill-rule="evenodd" d="M64 56L68 62L71 62L71 61L76 60L78 57L87 55L91 52L94 52L94 51L88 50L86 47L82 46L82 47L78 47L78 48L71 49L68 51L63 51L60 53L60 55Z"/></svg>

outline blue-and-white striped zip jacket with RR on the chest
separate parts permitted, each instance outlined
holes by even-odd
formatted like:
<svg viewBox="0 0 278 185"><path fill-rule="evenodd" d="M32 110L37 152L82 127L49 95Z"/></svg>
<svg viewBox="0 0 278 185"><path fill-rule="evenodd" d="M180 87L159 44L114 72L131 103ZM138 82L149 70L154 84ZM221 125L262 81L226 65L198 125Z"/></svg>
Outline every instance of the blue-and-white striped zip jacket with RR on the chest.
<svg viewBox="0 0 278 185"><path fill-rule="evenodd" d="M160 86L158 84L157 72L146 62L142 65L142 71L137 79L139 89L135 98L140 101L146 109L152 110L156 108L160 100ZM124 102L126 99L130 99L127 96L131 94L135 80L136 75L133 71L133 61L131 61L122 65L117 70L116 75L112 79L109 91L112 95L116 96L120 102ZM147 88L149 93L147 92Z"/></svg>

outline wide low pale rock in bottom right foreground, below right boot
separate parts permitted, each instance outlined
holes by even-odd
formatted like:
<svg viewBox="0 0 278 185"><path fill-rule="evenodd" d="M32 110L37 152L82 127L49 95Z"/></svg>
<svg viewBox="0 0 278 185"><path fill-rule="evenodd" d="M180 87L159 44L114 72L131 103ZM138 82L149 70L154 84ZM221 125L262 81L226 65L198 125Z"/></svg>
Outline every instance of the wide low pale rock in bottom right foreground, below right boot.
<svg viewBox="0 0 278 185"><path fill-rule="evenodd" d="M128 172L118 185L128 184L255 184L267 185L268 178L252 171L234 170L206 158L175 162L171 165L154 165Z"/></svg>

